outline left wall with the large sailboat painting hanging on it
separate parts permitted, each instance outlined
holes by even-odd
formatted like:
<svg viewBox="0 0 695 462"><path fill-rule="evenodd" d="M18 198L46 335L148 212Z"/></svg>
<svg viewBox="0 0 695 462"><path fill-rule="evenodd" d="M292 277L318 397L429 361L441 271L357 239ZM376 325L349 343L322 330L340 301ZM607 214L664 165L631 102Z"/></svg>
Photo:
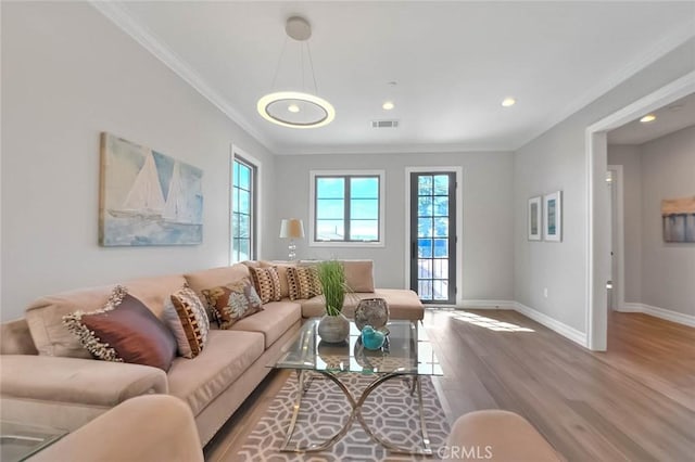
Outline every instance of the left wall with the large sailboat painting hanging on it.
<svg viewBox="0 0 695 462"><path fill-rule="evenodd" d="M3 320L55 291L226 265L231 143L274 195L273 156L88 3L3 2L2 97ZM202 245L98 245L101 131L204 170Z"/></svg>

